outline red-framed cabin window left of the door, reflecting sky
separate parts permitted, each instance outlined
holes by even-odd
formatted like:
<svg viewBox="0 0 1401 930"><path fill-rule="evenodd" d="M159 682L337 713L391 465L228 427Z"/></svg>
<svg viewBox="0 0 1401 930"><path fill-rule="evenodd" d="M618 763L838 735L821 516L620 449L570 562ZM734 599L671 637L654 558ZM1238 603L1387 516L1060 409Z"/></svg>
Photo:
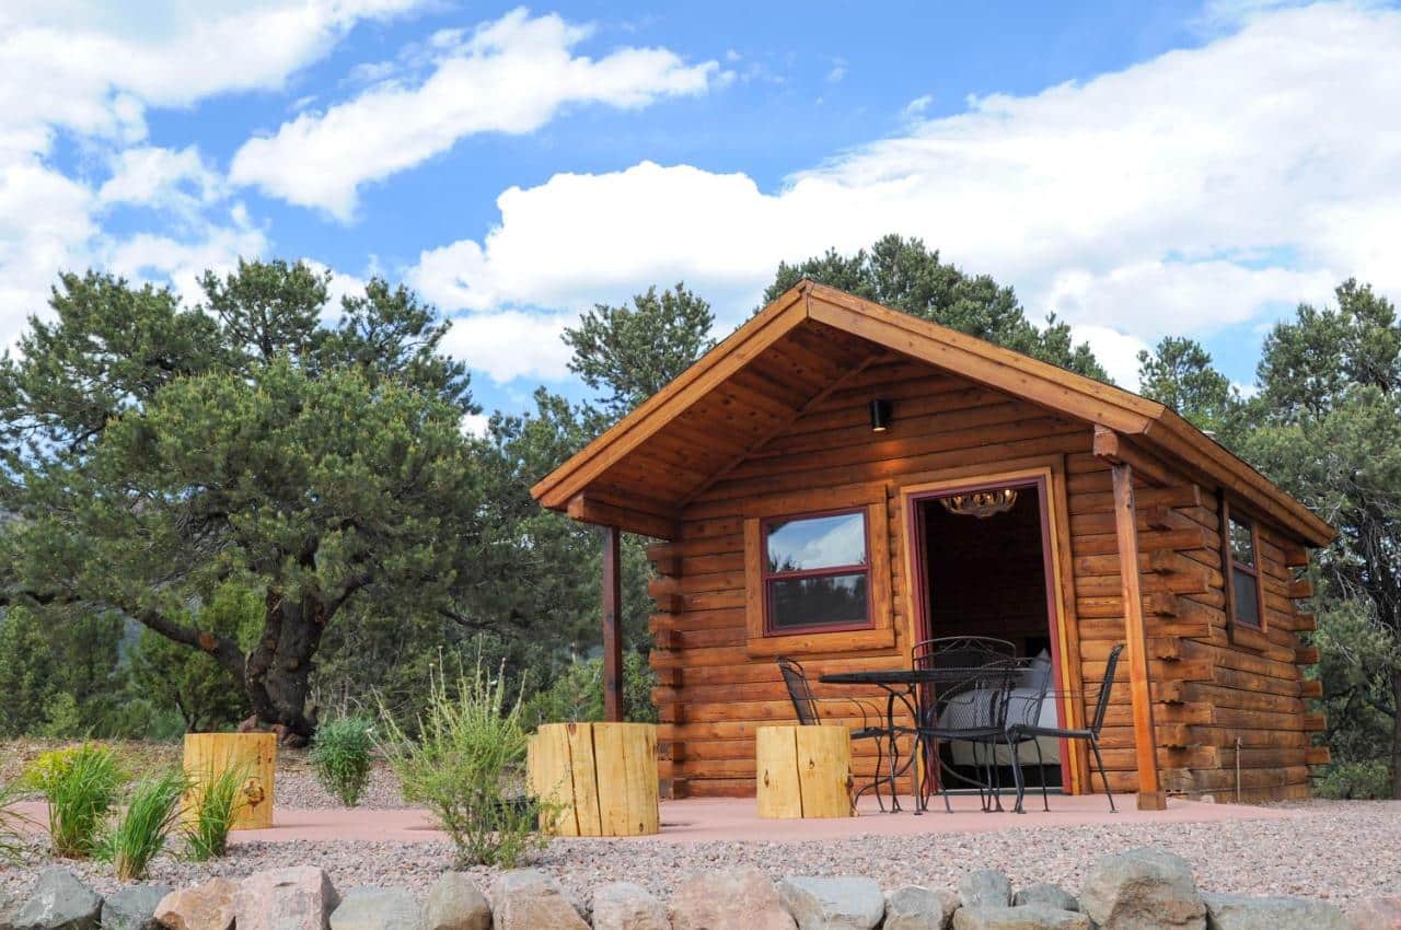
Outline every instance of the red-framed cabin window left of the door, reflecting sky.
<svg viewBox="0 0 1401 930"><path fill-rule="evenodd" d="M866 510L765 520L768 633L871 626Z"/></svg>

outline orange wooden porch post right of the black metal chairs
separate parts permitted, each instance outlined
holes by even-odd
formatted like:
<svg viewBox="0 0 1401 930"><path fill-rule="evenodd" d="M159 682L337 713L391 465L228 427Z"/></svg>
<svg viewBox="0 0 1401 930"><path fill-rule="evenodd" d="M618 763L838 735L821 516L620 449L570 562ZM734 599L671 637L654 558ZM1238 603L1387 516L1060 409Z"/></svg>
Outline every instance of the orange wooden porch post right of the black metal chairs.
<svg viewBox="0 0 1401 930"><path fill-rule="evenodd" d="M1119 581L1124 599L1124 640L1129 654L1129 698L1133 712L1133 755L1138 765L1138 808L1161 811L1167 796L1157 776L1157 733L1149 686L1147 627L1139 585L1138 515L1133 506L1133 465L1118 433L1094 427L1094 454L1110 464L1114 476L1114 531L1118 539Z"/></svg>

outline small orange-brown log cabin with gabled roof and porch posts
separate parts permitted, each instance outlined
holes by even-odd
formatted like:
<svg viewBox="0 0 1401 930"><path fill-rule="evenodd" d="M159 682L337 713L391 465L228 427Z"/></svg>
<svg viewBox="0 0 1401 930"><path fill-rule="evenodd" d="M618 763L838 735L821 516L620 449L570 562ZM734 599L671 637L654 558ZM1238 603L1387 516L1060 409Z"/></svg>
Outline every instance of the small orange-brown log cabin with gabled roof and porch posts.
<svg viewBox="0 0 1401 930"><path fill-rule="evenodd" d="M604 528L611 719L619 532L658 541L672 797L754 793L755 728L794 721L779 655L909 668L960 634L1049 657L1062 726L1124 643L1101 742L1142 808L1306 797L1328 761L1296 605L1327 522L1161 403L852 294L800 282L532 494ZM1103 790L1083 744L1049 755L1030 784Z"/></svg>

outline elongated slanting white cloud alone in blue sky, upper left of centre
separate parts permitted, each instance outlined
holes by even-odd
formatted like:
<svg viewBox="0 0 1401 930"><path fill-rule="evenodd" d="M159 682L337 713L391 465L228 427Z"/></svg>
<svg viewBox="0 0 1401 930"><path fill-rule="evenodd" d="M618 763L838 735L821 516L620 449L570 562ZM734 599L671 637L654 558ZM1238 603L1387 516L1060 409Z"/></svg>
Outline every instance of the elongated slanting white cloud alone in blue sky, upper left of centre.
<svg viewBox="0 0 1401 930"><path fill-rule="evenodd" d="M360 185L387 178L478 133L528 133L573 104L623 109L700 94L716 62L686 64L667 49L623 48L594 60L573 48L590 35L558 15L516 10L465 39L434 36L433 73L385 78L324 113L303 113L234 157L235 183L349 220Z"/></svg>

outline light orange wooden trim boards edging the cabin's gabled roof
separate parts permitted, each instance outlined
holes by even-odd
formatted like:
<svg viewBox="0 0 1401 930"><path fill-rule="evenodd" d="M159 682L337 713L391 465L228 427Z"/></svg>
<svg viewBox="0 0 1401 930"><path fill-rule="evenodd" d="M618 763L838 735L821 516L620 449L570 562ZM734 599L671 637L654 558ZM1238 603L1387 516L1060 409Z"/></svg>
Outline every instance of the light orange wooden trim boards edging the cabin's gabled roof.
<svg viewBox="0 0 1401 930"><path fill-rule="evenodd" d="M580 513L579 503L570 507L570 501L590 482L808 319L1135 437L1149 448L1201 468L1313 545L1325 545L1337 535L1313 511L1161 403L808 280L799 282L675 381L545 476L531 494L553 510ZM657 528L654 521L649 522L650 528Z"/></svg>

